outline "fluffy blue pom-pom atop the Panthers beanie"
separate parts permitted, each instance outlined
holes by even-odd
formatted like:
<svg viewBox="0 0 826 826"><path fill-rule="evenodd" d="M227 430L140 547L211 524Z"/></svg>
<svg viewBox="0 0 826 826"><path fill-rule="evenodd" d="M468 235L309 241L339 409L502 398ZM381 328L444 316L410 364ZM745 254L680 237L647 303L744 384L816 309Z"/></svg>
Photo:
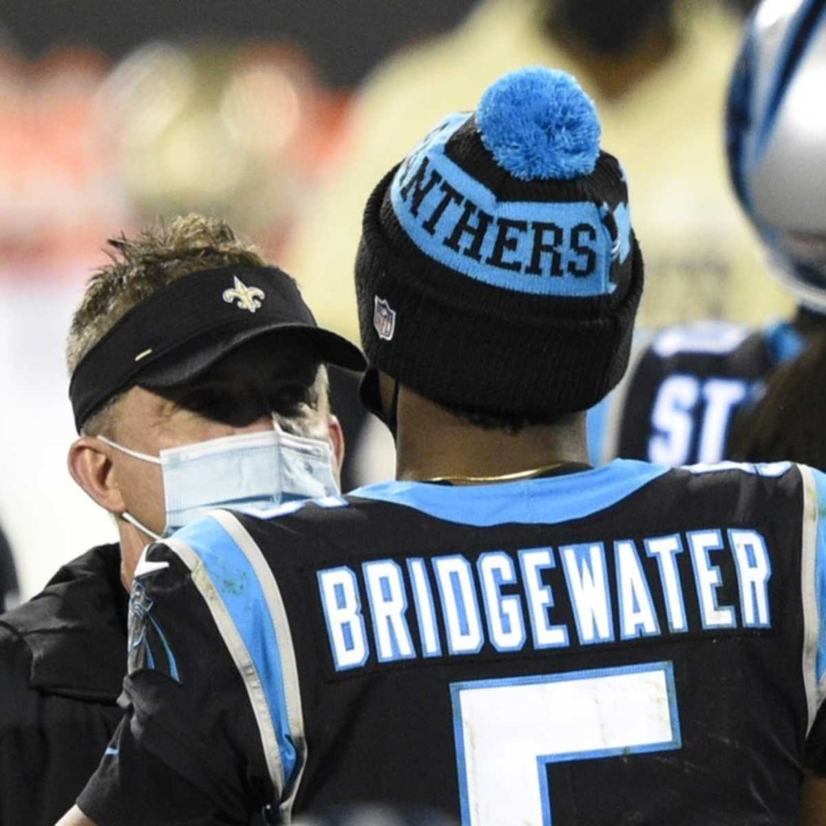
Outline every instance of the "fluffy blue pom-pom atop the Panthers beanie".
<svg viewBox="0 0 826 826"><path fill-rule="evenodd" d="M482 143L515 178L578 178L594 171L600 155L594 103L559 69L504 75L482 95L476 119Z"/></svg>

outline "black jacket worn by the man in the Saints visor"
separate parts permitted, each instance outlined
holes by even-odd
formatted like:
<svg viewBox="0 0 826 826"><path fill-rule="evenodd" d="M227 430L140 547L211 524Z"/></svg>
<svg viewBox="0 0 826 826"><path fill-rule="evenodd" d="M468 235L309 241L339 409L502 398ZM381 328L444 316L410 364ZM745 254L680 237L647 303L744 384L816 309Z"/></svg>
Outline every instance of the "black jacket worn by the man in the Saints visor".
<svg viewBox="0 0 826 826"><path fill-rule="evenodd" d="M128 603L120 548L101 545L0 615L0 826L54 824L100 762L122 715Z"/></svg>

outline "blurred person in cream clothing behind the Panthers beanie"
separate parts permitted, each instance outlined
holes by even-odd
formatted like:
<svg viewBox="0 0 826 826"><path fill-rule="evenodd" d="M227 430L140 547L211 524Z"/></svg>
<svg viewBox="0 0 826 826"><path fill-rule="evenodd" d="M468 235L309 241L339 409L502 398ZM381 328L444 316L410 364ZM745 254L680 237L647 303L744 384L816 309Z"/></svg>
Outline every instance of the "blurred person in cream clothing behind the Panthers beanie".
<svg viewBox="0 0 826 826"><path fill-rule="evenodd" d="M284 250L320 323L356 335L355 297L340 262L354 258L363 203L409 150L410 136L452 108L473 107L495 78L525 64L575 75L623 159L651 276L640 307L645 325L721 313L753 324L784 301L790 306L771 278L757 278L764 264L728 197L719 117L742 17L727 5L477 0L454 31L379 64L354 95L339 169ZM392 443L373 416L347 434L361 483L387 478Z"/></svg>

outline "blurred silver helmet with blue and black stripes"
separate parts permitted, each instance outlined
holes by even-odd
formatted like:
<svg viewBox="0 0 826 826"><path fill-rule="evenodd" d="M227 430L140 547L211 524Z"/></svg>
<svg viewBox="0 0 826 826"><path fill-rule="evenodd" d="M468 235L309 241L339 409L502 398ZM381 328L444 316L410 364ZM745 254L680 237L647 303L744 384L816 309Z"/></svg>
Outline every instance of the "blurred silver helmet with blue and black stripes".
<svg viewBox="0 0 826 826"><path fill-rule="evenodd" d="M798 303L826 313L826 0L762 0L729 88L729 172Z"/></svg>

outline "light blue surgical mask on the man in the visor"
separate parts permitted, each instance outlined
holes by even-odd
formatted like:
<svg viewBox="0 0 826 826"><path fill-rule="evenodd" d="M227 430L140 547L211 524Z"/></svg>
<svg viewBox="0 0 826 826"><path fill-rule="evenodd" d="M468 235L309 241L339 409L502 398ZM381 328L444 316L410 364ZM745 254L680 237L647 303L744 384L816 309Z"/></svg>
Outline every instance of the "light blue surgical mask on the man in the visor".
<svg viewBox="0 0 826 826"><path fill-rule="evenodd" d="M140 453L98 436L130 456L159 464L164 475L164 537L214 508L258 514L281 502L338 496L330 442L273 430L244 433ZM153 539L161 539L130 513L121 516Z"/></svg>

